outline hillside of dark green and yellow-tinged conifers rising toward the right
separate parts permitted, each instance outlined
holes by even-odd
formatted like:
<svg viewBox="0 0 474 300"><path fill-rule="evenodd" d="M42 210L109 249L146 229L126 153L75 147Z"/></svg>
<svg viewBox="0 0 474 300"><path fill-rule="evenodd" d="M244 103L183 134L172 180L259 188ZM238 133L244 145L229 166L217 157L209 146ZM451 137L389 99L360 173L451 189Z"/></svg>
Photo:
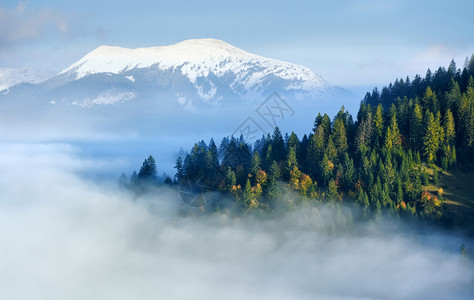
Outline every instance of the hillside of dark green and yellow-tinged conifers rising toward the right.
<svg viewBox="0 0 474 300"><path fill-rule="evenodd" d="M332 118L315 114L302 137L284 137L276 127L252 145L242 137L225 137L219 147L201 141L178 158L173 182L199 182L231 196L241 211L324 201L355 205L363 219L390 214L450 225L440 176L472 169L473 75L474 55L462 70L451 62L447 70L374 89L355 119L344 107ZM135 176L132 186L150 182L151 173Z"/></svg>

